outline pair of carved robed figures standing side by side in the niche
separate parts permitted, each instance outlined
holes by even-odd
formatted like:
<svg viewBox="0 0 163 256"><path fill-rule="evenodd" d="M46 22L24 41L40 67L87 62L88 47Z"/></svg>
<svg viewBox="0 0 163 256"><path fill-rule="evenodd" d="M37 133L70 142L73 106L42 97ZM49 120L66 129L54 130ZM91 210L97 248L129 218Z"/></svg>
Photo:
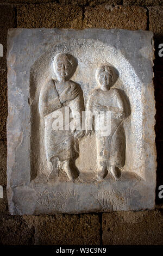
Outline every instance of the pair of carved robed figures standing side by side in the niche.
<svg viewBox="0 0 163 256"><path fill-rule="evenodd" d="M88 136L93 128L96 130L96 180L105 178L108 172L114 179L118 179L121 176L119 167L125 164L126 142L122 121L127 111L121 90L112 88L115 81L114 71L108 65L101 65L96 70L99 87L92 90L87 100L86 123L92 123L92 127L89 130L87 126L85 133L83 92L77 83L70 80L76 69L74 63L74 57L70 54L58 53L53 63L57 80L48 81L41 88L39 96L39 112L45 121L44 141L49 175L57 178L59 169L62 169L70 180L78 178L79 171L74 164L79 156L78 139ZM100 127L95 129L95 120L103 117L106 119L106 112L111 115L108 120L111 127L108 136L102 133ZM54 117L61 120L57 129L54 127ZM70 117L73 119L72 127ZM98 121L102 123L102 120Z"/></svg>

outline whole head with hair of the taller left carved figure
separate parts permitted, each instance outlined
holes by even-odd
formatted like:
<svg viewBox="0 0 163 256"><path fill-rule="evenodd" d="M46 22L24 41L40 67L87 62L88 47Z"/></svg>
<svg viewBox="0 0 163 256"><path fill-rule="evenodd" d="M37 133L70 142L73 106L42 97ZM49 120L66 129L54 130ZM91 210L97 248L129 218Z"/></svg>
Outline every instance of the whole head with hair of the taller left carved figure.
<svg viewBox="0 0 163 256"><path fill-rule="evenodd" d="M72 76L73 70L71 56L58 53L54 58L54 69L59 82L68 81Z"/></svg>

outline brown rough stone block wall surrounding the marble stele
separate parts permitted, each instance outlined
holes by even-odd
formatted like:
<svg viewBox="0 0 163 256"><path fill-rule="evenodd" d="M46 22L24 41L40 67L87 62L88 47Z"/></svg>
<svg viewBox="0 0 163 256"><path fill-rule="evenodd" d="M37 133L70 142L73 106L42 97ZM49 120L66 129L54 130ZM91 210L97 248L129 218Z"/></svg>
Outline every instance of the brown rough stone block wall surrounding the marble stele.
<svg viewBox="0 0 163 256"><path fill-rule="evenodd" d="M52 3L51 3L52 2ZM0 244L2 245L161 245L163 242L163 0L0 0ZM158 153L156 209L110 214L10 216L6 195L7 161L7 29L124 28L154 32L154 86L156 100L156 148Z"/></svg>

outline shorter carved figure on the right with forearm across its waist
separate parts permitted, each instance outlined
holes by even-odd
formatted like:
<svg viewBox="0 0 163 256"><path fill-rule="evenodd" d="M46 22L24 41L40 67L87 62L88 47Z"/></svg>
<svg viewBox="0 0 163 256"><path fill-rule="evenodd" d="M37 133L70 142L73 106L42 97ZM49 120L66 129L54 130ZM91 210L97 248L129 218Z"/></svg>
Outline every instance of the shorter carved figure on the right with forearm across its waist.
<svg viewBox="0 0 163 256"><path fill-rule="evenodd" d="M108 171L117 179L121 176L119 167L124 166L125 162L126 140L122 120L126 117L126 111L121 91L112 88L114 72L110 66L100 66L96 70L96 80L99 87L91 92L87 113L111 112L110 135L104 136L96 131L98 179L105 178Z"/></svg>

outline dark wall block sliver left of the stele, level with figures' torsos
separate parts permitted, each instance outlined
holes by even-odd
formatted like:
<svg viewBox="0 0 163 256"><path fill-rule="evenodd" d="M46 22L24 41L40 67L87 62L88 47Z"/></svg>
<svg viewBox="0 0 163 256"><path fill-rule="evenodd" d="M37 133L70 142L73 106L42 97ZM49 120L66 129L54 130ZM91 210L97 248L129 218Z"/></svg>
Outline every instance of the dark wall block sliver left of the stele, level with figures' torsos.
<svg viewBox="0 0 163 256"><path fill-rule="evenodd" d="M1 59L1 58L0 58ZM6 122L8 115L8 103L7 103L7 71L0 70L0 140L7 140L6 135Z"/></svg>

